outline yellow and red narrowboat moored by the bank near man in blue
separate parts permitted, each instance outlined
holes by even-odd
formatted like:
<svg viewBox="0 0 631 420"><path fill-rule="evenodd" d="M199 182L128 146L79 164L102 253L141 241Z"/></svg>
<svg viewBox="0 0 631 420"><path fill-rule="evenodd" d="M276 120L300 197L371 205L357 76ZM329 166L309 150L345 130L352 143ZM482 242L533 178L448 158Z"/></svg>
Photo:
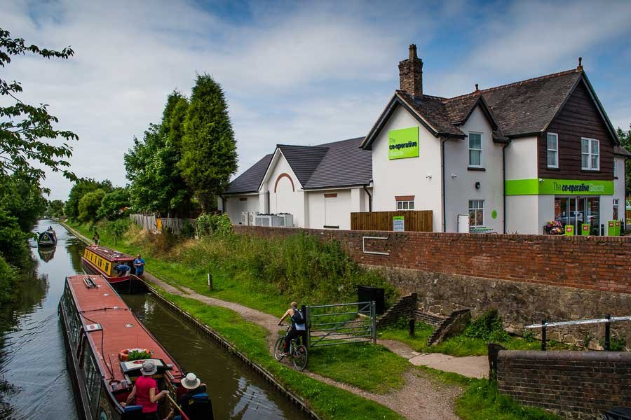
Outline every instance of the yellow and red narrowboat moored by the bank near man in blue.
<svg viewBox="0 0 631 420"><path fill-rule="evenodd" d="M92 245L83 251L81 265L88 274L100 274L118 290L130 286L132 274L135 274L134 257L120 253L107 246ZM125 265L129 269L121 270L118 266Z"/></svg>

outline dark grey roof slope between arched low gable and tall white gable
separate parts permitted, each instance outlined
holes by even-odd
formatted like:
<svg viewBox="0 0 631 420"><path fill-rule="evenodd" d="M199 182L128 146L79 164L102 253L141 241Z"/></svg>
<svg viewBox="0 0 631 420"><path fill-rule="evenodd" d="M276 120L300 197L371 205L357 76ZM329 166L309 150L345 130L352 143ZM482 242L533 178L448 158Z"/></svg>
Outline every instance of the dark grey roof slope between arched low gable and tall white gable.
<svg viewBox="0 0 631 420"><path fill-rule="evenodd" d="M304 188L357 186L372 181L372 152L360 148L363 137L320 144L328 149Z"/></svg>

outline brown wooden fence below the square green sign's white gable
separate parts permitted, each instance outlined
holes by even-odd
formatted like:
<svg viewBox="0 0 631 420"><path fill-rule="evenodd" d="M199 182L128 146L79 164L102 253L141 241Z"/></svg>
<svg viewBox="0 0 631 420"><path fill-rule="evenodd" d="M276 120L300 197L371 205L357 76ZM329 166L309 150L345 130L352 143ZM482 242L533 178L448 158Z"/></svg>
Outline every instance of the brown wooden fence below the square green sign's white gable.
<svg viewBox="0 0 631 420"><path fill-rule="evenodd" d="M351 213L351 230L393 230L393 216L403 216L406 232L433 232L431 210Z"/></svg>

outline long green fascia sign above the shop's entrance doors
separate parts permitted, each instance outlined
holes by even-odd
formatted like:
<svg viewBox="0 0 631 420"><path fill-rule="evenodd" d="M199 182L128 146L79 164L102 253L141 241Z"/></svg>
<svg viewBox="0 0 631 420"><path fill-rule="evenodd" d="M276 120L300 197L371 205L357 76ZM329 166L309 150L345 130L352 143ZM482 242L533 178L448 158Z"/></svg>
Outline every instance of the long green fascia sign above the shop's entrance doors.
<svg viewBox="0 0 631 420"><path fill-rule="evenodd" d="M506 195L613 195L613 181L576 179L511 179Z"/></svg>

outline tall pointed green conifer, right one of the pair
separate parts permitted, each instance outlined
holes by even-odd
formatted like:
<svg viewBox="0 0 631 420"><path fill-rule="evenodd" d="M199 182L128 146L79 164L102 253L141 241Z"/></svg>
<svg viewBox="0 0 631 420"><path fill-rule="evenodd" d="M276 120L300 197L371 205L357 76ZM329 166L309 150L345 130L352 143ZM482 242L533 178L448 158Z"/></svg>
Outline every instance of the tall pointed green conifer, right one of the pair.
<svg viewBox="0 0 631 420"><path fill-rule="evenodd" d="M186 114L178 167L204 211L215 206L237 169L236 142L224 92L212 76L197 76Z"/></svg>

